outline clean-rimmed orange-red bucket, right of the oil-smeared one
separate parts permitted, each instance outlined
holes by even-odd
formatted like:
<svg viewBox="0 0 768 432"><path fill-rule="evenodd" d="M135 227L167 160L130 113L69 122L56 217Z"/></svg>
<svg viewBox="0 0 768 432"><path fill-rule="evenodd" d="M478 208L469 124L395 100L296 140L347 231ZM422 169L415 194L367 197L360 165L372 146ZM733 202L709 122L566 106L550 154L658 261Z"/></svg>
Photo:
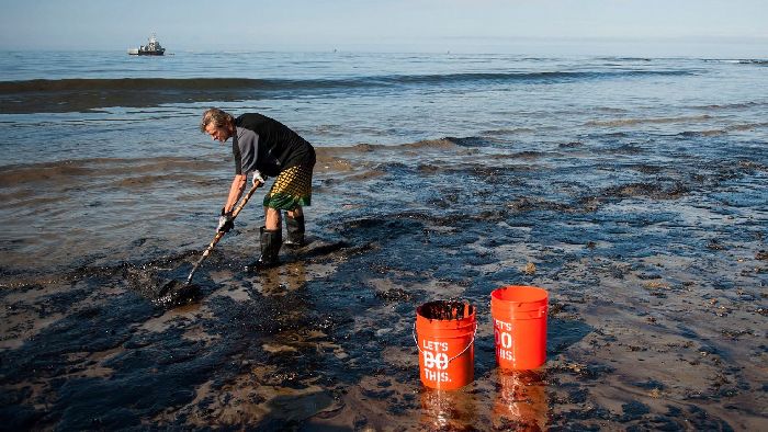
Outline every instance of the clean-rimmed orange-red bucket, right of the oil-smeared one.
<svg viewBox="0 0 768 432"><path fill-rule="evenodd" d="M501 368L533 370L546 362L546 291L506 286L490 293L496 361Z"/></svg>

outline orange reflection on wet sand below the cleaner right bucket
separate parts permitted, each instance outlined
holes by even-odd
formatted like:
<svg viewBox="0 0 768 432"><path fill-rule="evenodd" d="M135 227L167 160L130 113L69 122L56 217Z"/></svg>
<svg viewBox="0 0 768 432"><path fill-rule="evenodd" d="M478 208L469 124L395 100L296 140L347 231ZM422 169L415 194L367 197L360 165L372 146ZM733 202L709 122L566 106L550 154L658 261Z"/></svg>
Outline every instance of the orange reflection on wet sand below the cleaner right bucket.
<svg viewBox="0 0 768 432"><path fill-rule="evenodd" d="M498 370L494 427L500 430L542 431L546 425L546 384L540 371Z"/></svg>

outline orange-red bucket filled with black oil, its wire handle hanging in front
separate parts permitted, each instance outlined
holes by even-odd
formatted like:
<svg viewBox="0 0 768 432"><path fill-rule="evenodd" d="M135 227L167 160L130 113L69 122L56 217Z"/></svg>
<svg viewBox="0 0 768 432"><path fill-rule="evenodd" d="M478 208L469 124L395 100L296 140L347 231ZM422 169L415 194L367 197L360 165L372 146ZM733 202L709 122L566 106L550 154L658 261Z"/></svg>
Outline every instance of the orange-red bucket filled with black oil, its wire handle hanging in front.
<svg viewBox="0 0 768 432"><path fill-rule="evenodd" d="M475 307L438 300L416 308L414 340L419 349L421 383L452 390L475 379Z"/></svg>

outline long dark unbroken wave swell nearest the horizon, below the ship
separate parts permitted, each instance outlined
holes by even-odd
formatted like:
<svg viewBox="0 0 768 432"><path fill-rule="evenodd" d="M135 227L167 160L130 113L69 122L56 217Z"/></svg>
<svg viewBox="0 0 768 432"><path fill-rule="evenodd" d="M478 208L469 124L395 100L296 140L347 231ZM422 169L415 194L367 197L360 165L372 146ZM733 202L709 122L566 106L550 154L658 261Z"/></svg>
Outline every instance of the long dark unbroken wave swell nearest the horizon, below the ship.
<svg viewBox="0 0 768 432"><path fill-rule="evenodd" d="M352 93L357 90L444 88L517 83L561 83L644 76L685 76L689 70L608 70L386 75L339 79L118 78L0 82L0 114L81 112L110 106L231 102L286 94Z"/></svg>

